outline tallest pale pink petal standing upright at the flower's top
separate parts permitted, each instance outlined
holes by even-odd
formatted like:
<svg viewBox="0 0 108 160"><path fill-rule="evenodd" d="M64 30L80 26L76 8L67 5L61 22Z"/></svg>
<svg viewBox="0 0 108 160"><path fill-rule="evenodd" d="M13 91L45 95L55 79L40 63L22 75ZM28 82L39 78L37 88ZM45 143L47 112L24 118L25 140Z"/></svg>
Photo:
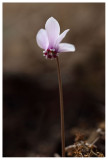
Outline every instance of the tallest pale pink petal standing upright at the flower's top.
<svg viewBox="0 0 108 160"><path fill-rule="evenodd" d="M51 48L54 46L55 41L57 40L60 33L60 26L58 21L53 17L50 17L45 24L45 29L48 34L49 46Z"/></svg>

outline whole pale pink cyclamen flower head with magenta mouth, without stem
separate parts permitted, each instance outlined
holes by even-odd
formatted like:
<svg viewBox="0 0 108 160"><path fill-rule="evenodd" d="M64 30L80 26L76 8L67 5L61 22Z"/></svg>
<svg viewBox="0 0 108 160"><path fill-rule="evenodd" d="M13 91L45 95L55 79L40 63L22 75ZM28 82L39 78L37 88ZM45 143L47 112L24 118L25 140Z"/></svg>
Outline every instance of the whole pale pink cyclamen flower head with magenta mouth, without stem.
<svg viewBox="0 0 108 160"><path fill-rule="evenodd" d="M58 21L50 17L45 29L40 29L37 33L36 40L40 48L44 49L43 55L46 58L56 58L61 52L74 52L75 46L69 43L60 43L66 36L69 29L60 34L60 25Z"/></svg>

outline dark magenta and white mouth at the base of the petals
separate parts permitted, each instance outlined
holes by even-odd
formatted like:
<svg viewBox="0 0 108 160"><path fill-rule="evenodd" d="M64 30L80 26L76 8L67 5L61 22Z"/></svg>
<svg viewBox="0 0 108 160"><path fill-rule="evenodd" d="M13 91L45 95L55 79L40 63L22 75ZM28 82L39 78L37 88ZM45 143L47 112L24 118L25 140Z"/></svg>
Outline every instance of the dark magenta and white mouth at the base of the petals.
<svg viewBox="0 0 108 160"><path fill-rule="evenodd" d="M46 51L43 51L43 56L45 56L46 58L52 59L52 58L56 58L58 54L55 49L47 49Z"/></svg>

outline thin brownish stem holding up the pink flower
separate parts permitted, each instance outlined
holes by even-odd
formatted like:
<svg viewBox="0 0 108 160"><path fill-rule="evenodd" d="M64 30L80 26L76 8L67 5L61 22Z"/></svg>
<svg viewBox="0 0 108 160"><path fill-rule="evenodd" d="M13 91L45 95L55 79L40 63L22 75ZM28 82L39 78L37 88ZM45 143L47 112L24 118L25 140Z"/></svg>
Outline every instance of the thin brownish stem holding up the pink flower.
<svg viewBox="0 0 108 160"><path fill-rule="evenodd" d="M59 82L59 94L60 94L62 157L65 157L65 131L64 131L63 91L62 91L62 81L61 81L60 65L59 65L58 57L56 58L56 60L57 60L58 82Z"/></svg>

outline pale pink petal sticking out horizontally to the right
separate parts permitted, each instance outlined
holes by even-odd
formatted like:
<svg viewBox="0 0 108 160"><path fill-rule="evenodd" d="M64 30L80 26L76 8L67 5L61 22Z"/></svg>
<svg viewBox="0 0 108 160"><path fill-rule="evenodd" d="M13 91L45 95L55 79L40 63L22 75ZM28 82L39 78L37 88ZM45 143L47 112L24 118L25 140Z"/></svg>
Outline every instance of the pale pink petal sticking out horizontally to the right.
<svg viewBox="0 0 108 160"><path fill-rule="evenodd" d="M74 52L75 46L69 43L60 43L58 46L58 53L61 52Z"/></svg>

